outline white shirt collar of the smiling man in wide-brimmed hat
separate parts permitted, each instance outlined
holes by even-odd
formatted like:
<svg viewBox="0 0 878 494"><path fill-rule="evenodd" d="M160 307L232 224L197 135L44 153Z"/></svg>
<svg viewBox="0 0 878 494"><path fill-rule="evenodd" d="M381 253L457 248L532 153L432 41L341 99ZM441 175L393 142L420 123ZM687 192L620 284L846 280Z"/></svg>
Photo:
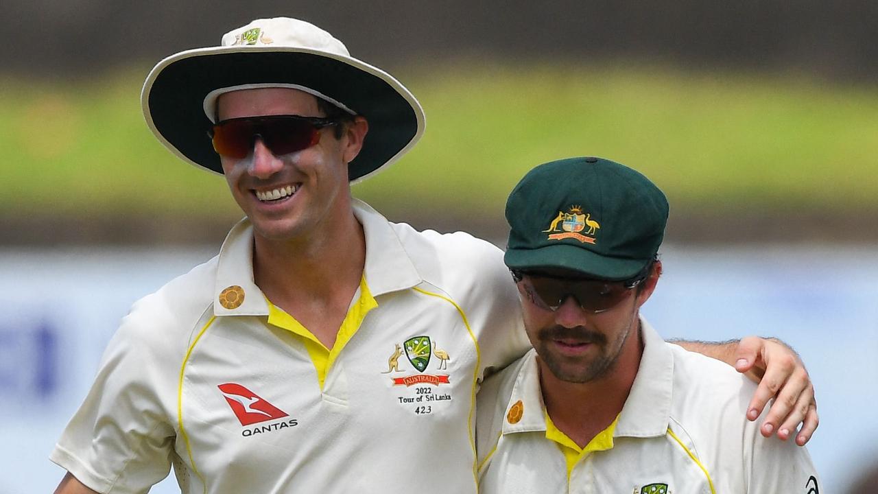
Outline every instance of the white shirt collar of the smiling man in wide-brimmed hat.
<svg viewBox="0 0 878 494"><path fill-rule="evenodd" d="M421 275L385 217L360 200L354 200L353 208L366 239L363 277L371 294L378 296L421 283ZM213 301L216 316L269 314L265 295L253 280L253 226L247 218L229 231L219 250Z"/></svg>

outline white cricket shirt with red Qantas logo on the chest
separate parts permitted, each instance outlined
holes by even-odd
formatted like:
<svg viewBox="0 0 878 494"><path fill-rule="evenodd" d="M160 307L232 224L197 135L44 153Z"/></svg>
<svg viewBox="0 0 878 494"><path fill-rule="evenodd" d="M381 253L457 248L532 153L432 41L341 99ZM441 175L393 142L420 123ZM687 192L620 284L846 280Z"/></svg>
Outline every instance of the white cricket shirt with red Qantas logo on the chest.
<svg viewBox="0 0 878 494"><path fill-rule="evenodd" d="M363 282L332 349L255 286L241 222L135 303L52 461L104 493L171 463L186 494L476 492L477 381L529 347L502 254L355 214Z"/></svg>

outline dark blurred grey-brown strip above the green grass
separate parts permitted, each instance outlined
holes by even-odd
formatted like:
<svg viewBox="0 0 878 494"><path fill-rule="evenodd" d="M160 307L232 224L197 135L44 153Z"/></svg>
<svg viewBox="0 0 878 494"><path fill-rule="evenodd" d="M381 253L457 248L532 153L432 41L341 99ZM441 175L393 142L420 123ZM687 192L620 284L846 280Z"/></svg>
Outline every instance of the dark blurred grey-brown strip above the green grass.
<svg viewBox="0 0 878 494"><path fill-rule="evenodd" d="M4 69L87 76L155 62L259 17L291 15L337 33L380 67L467 55L609 60L801 71L838 81L878 77L878 3L4 0Z"/></svg>

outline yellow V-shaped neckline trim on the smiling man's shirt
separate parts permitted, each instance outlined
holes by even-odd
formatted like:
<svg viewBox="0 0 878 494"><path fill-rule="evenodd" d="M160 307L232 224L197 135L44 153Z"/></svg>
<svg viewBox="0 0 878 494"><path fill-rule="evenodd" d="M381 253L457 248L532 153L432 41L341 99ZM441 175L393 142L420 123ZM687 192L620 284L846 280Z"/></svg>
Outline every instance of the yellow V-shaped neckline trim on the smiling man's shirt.
<svg viewBox="0 0 878 494"><path fill-rule="evenodd" d="M350 338L354 337L354 334L363 323L366 314L371 309L378 307L378 301L372 296L369 286L366 285L366 279L363 276L360 278L360 296L348 309L348 314L344 316L342 326L338 329L338 334L335 336L335 344L329 349L326 345L320 343L320 340L311 331L308 331L302 323L299 323L295 317L287 314L284 309L277 307L267 298L265 301L269 304L268 322L278 328L290 331L298 336L305 345L308 356L313 361L314 370L317 372L317 381L320 383L320 389L323 389L323 382L326 381L327 372L332 367L338 354L342 352L344 345L347 345Z"/></svg>

